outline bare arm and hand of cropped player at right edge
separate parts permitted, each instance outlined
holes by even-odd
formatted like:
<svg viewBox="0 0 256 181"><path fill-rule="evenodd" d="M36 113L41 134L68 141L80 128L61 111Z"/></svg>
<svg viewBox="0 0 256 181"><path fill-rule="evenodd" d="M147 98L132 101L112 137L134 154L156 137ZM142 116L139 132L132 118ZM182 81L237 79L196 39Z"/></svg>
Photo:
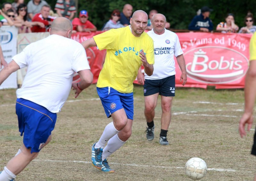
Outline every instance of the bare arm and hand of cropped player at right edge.
<svg viewBox="0 0 256 181"><path fill-rule="evenodd" d="M245 77L244 87L244 114L239 121L239 133L241 137L246 135L245 125L248 124L247 130L250 131L253 122L253 106L256 98L256 61L250 61L249 69Z"/></svg>

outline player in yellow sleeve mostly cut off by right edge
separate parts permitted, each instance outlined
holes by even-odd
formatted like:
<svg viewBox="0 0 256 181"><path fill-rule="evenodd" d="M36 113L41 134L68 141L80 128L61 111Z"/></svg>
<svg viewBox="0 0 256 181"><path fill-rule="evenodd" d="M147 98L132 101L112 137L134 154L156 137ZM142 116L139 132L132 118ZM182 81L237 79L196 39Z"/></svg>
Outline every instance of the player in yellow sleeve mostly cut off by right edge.
<svg viewBox="0 0 256 181"><path fill-rule="evenodd" d="M245 133L245 125L248 124L247 130L250 131L253 122L253 106L256 98L256 33L252 35L250 41L250 65L246 73L244 87L244 114L239 122L239 132L243 138ZM256 156L256 133L254 133L254 141L252 145L252 155ZM256 174L254 176L256 181Z"/></svg>

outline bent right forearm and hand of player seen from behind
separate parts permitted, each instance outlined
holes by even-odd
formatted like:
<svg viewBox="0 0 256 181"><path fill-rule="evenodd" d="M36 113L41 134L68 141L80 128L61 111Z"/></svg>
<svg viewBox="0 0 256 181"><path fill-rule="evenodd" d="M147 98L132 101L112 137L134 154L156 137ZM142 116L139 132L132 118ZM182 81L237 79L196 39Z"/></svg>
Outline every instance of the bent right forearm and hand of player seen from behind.
<svg viewBox="0 0 256 181"><path fill-rule="evenodd" d="M92 84L93 75L89 69L81 70L77 72L81 78L81 81L78 83L72 83L73 90L75 91L75 98L87 87Z"/></svg>

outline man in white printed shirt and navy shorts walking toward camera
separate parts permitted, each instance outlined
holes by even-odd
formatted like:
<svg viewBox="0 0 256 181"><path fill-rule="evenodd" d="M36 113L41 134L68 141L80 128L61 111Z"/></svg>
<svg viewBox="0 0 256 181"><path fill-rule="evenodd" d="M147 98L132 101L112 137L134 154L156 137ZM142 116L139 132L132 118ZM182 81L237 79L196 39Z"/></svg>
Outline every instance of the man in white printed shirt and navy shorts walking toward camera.
<svg viewBox="0 0 256 181"><path fill-rule="evenodd" d="M159 143L161 145L169 145L167 141L167 131L171 122L171 108L172 98L175 96L175 61L181 69L180 81L183 80L182 85L187 82L187 72L183 51L180 47L180 41L177 34L166 30L166 18L163 14L155 14L151 21L153 29L148 32L148 35L154 41L154 72L152 76L145 74L145 77L138 72L138 82L144 84L144 98L145 98L145 117L147 121L147 139L152 141L154 139L154 117L155 108L158 95L161 95L161 132Z"/></svg>

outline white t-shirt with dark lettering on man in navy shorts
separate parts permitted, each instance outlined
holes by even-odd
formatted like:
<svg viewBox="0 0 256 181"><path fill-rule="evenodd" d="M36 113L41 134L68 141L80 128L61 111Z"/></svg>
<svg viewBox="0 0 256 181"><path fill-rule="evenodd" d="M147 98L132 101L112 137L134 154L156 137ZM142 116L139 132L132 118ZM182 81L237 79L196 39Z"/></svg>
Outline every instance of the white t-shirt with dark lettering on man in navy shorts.
<svg viewBox="0 0 256 181"><path fill-rule="evenodd" d="M173 56L177 57L183 54L177 34L164 29L164 33L158 35L152 29L148 31L148 35L154 41L155 64L153 75L148 76L145 73L145 79L162 79L175 75Z"/></svg>

